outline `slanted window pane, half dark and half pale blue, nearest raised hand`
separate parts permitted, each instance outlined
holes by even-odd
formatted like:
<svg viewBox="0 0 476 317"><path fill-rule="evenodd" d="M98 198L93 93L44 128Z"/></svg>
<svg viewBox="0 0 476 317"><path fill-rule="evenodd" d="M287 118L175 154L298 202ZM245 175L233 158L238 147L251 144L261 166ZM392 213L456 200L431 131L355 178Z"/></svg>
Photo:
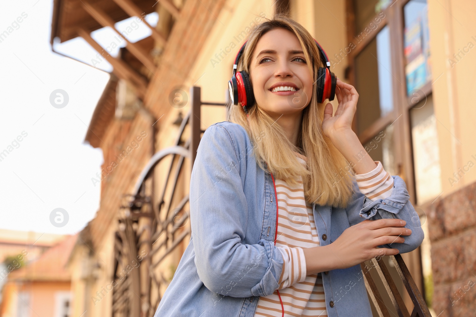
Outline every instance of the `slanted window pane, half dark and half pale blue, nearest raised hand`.
<svg viewBox="0 0 476 317"><path fill-rule="evenodd" d="M389 30L380 30L355 59L358 134L393 110Z"/></svg>

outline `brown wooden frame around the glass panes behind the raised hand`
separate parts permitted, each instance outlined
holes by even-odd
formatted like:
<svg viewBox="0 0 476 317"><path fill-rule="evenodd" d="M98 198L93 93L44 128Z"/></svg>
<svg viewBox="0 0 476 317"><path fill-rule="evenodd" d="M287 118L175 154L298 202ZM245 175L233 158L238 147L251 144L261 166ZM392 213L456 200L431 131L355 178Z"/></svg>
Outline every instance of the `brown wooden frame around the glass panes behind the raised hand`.
<svg viewBox="0 0 476 317"><path fill-rule="evenodd" d="M405 76L406 64L404 55L404 7L409 1L410 0L394 1L385 10L381 11L385 14L385 17L381 18L381 22L379 23L379 30L388 26L390 31L390 50L392 52L390 55L392 66L391 72L394 78L394 80L392 80L393 111L377 119L360 134L357 130L358 119L356 112L352 122L352 130L357 134L359 141L362 144L366 144L379 132L384 131L387 125L395 125L393 137L395 146L395 164L398 171L397 175L407 184L410 201L413 205L416 205L416 183L413 163L410 109L417 103L413 102L413 96L407 96L407 81ZM353 42L355 44L357 32L361 32L362 30L356 29L354 2L355 0L346 0L346 16L347 40L349 43ZM376 13L374 18L379 17L379 14L380 12ZM348 79L352 86L356 86L355 59L357 55L377 37L379 30L377 32L370 32L365 38L357 43L356 47L348 54L346 79ZM425 96L429 96L432 93L431 82L426 83L426 85L420 87L419 90L421 90Z"/></svg>

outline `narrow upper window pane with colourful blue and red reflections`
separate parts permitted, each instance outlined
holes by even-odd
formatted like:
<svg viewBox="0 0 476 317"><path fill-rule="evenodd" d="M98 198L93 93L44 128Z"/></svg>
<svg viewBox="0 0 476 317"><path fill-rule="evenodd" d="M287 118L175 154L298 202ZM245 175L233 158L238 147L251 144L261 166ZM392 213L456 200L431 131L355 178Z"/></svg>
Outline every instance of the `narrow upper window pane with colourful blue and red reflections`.
<svg viewBox="0 0 476 317"><path fill-rule="evenodd" d="M410 0L404 7L405 77L407 95L431 81L428 6L426 0Z"/></svg>

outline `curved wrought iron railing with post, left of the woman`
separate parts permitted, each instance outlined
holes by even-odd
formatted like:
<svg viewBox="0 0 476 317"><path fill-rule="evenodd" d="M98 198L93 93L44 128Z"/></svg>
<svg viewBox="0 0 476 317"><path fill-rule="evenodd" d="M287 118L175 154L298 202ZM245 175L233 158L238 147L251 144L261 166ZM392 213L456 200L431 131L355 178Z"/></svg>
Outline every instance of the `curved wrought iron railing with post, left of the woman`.
<svg viewBox="0 0 476 317"><path fill-rule="evenodd" d="M169 285L161 264L174 254L181 242L190 237L188 175L184 175L185 160L190 170L195 160L200 136L200 107L225 104L202 102L200 87L190 88L191 106L178 129L173 146L152 156L140 173L133 193L124 196L119 212L119 230L114 243L113 288L114 317L152 317L161 295ZM190 137L182 141L186 126ZM160 186L154 186L155 172L166 164ZM160 192L158 192L160 190ZM172 259L175 261L177 259ZM129 266L129 269L128 269ZM137 267L136 267L137 266Z"/></svg>

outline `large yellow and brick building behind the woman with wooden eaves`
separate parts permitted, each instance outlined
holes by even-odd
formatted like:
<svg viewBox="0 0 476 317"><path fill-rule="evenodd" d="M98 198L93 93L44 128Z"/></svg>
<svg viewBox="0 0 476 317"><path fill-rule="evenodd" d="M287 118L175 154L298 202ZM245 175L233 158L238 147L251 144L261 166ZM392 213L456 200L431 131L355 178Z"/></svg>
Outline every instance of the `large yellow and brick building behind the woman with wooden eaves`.
<svg viewBox="0 0 476 317"><path fill-rule="evenodd" d="M92 180L100 208L68 262L72 316L153 316L190 239L188 182L200 135L226 120L238 49L276 11L304 25L331 70L356 87L354 131L405 180L426 239L403 257L435 316L475 310L476 110L467 93L475 2L54 0L52 47L81 37L97 51L89 65L113 67L85 138L102 149L104 165ZM156 25L149 14L158 14ZM150 35L134 41L138 23ZM95 39L103 28L115 32L110 45Z"/></svg>

